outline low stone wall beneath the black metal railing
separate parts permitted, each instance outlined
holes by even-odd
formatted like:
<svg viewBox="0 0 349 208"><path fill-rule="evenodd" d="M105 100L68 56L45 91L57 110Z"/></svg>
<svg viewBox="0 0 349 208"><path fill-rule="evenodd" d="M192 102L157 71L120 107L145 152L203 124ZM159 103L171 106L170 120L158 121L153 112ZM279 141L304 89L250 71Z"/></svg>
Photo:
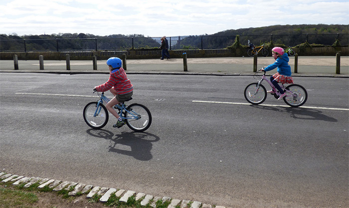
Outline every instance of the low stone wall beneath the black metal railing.
<svg viewBox="0 0 349 208"><path fill-rule="evenodd" d="M349 55L349 47L314 47L306 48L306 51L294 49L300 56L335 56L340 52L341 56ZM205 50L170 50L172 58L181 58L185 52L188 58L208 58L208 57L242 57L247 56L246 49L205 49ZM152 59L160 58L161 50L128 50L128 51L89 51L89 52L0 52L1 60L13 60L13 55L18 56L18 60L37 60L39 55L43 55L45 60L65 60L69 54L70 60L92 60L97 56L98 60L106 60L109 57L122 57L127 55L127 59ZM269 51L269 56L271 51Z"/></svg>

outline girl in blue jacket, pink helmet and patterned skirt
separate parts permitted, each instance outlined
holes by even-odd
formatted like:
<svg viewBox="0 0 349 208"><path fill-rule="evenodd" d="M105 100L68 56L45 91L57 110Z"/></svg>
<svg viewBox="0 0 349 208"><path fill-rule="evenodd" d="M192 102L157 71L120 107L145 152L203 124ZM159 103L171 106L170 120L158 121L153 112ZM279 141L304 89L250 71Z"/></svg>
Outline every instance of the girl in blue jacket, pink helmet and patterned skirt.
<svg viewBox="0 0 349 208"><path fill-rule="evenodd" d="M262 71L270 71L278 67L278 72L270 77L270 81L271 83L273 83L275 88L279 90L279 92L281 93L278 99L281 100L286 96L286 93L281 89L279 83L293 83L293 78L291 77L291 66L288 64L290 59L287 53L285 53L284 49L281 47L274 47L271 51L273 53L275 62L262 69ZM271 94L275 93L273 89L267 92Z"/></svg>

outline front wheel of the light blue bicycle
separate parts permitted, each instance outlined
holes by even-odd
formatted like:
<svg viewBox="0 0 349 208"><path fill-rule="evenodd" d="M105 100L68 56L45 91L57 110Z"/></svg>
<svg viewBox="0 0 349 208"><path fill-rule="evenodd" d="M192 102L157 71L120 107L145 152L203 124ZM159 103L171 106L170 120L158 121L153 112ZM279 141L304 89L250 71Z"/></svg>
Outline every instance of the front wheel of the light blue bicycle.
<svg viewBox="0 0 349 208"><path fill-rule="evenodd" d="M101 129L103 128L109 120L109 114L107 108L100 104L100 112L97 116L94 116L97 110L98 102L90 102L88 103L83 111L83 116L86 124L93 129Z"/></svg>

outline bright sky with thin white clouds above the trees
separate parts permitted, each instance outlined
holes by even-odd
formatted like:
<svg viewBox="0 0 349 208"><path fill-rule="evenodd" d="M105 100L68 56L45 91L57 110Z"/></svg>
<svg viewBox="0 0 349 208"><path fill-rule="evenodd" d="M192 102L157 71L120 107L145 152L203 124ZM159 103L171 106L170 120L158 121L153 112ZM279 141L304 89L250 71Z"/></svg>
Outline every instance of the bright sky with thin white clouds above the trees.
<svg viewBox="0 0 349 208"><path fill-rule="evenodd" d="M349 0L1 0L0 34L214 34L286 24L349 24Z"/></svg>

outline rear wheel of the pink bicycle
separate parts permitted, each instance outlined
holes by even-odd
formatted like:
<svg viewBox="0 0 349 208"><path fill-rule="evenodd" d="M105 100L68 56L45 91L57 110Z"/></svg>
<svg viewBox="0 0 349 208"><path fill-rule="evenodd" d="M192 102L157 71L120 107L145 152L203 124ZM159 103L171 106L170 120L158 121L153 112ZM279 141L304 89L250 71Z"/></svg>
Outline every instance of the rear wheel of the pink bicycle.
<svg viewBox="0 0 349 208"><path fill-rule="evenodd" d="M304 103L307 102L308 92L302 85L290 84L289 86L285 87L285 89L295 94L295 97L286 96L283 98L287 105L296 108L304 105ZM286 91L286 95L290 95L290 93Z"/></svg>

